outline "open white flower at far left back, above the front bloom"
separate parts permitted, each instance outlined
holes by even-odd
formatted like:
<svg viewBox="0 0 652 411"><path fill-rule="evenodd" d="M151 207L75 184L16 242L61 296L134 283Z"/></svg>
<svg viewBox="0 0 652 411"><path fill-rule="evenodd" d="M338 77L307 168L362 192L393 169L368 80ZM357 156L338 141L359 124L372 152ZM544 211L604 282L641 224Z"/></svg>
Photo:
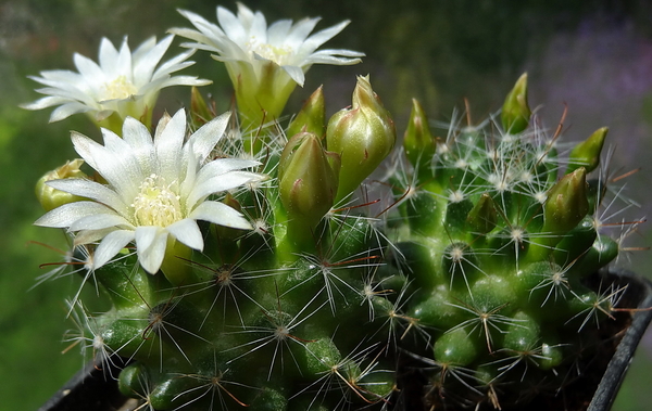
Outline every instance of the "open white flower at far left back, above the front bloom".
<svg viewBox="0 0 652 411"><path fill-rule="evenodd" d="M79 73L59 69L41 72L41 77L29 76L47 86L36 90L47 97L23 107L41 110L59 106L52 112L50 121L87 113L93 121L115 132L120 132L122 121L127 116L149 125L161 89L211 82L195 76L171 76L171 73L195 64L186 61L192 51L178 54L156 68L173 38L167 36L156 42L156 38L151 37L134 52L129 50L126 37L120 50L109 39L102 38L99 64L75 53L74 62Z"/></svg>

